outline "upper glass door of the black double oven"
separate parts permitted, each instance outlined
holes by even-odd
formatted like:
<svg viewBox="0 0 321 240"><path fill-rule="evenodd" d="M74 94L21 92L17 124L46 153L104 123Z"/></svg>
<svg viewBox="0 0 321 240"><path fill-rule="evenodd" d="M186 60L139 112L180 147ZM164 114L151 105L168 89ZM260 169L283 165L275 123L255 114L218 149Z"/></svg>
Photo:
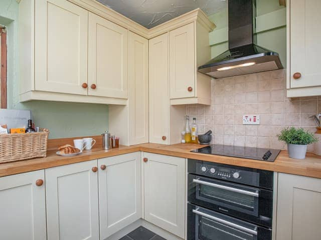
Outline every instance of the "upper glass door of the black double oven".
<svg viewBox="0 0 321 240"><path fill-rule="evenodd" d="M189 201L271 226L273 192L189 174Z"/></svg>

